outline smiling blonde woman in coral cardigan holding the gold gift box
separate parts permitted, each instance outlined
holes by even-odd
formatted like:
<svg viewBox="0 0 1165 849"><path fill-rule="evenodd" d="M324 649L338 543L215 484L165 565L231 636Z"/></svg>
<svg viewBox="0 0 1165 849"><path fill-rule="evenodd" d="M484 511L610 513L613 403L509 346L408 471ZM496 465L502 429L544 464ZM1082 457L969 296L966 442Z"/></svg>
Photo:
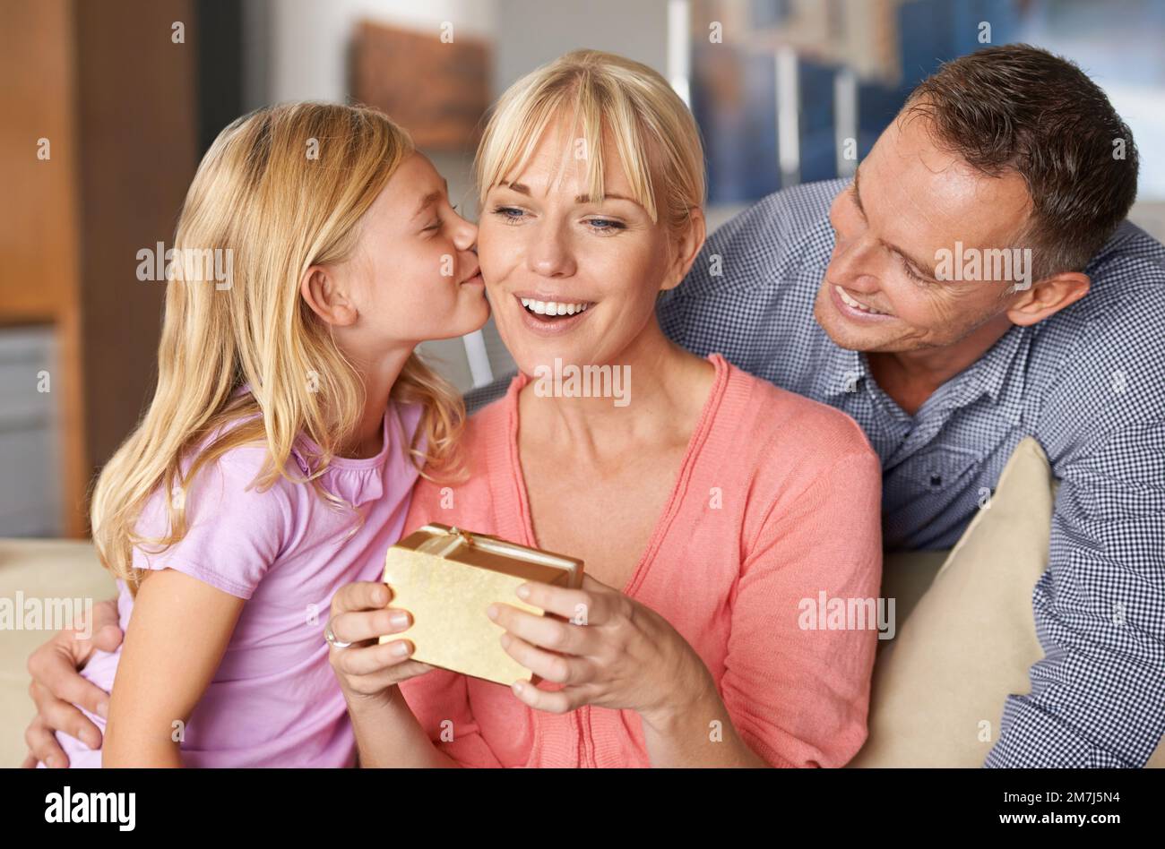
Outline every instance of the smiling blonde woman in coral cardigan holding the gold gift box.
<svg viewBox="0 0 1165 849"><path fill-rule="evenodd" d="M845 764L876 634L805 611L878 594L878 461L843 413L662 333L656 296L705 235L691 113L647 66L572 52L501 98L476 176L481 270L520 375L468 422L468 481L452 497L422 481L405 528L569 552L588 576L520 588L559 618L481 611L537 687L384 660L365 642L388 632L384 586L341 589L332 628L353 645L332 664L361 763ZM548 380L588 366L629 374L621 397Z"/></svg>

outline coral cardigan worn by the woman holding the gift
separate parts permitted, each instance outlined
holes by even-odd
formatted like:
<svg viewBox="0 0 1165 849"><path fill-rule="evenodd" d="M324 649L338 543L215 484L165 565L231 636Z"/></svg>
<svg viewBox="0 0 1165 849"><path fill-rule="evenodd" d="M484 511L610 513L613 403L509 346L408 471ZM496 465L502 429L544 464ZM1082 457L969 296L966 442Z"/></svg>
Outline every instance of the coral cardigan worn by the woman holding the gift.
<svg viewBox="0 0 1165 849"><path fill-rule="evenodd" d="M816 614L834 599L852 607L878 595L878 461L845 413L708 359L712 391L623 593L699 653L764 760L841 766L866 740L877 632ZM440 483L418 483L407 532L442 522L537 545L517 450L528 380L515 377L468 422L469 479L452 498ZM430 738L465 766L651 765L634 710L534 710L509 687L446 670L401 691Z"/></svg>

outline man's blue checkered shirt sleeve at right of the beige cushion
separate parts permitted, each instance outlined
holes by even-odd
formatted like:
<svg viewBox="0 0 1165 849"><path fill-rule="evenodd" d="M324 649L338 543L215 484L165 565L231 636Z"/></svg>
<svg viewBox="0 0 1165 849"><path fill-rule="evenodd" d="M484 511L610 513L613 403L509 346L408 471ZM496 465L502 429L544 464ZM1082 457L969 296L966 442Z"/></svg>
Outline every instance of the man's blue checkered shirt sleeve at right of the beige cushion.
<svg viewBox="0 0 1165 849"><path fill-rule="evenodd" d="M984 766L1142 767L1165 733L1165 417L1111 429L1057 474L1032 594L1045 657Z"/></svg>

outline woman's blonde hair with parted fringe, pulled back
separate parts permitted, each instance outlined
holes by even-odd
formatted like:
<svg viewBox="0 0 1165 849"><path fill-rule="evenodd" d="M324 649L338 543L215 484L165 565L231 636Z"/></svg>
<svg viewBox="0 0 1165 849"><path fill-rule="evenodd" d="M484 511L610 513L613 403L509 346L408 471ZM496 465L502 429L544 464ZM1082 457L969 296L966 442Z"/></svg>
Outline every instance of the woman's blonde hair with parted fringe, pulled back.
<svg viewBox="0 0 1165 849"><path fill-rule="evenodd" d="M588 194L603 196L605 133L622 160L634 199L676 233L704 205L704 148L696 120L658 72L600 50L573 50L528 73L497 101L474 174L483 208L488 191L520 172L548 127L573 121L571 144L587 161ZM661 210L662 207L662 210Z"/></svg>

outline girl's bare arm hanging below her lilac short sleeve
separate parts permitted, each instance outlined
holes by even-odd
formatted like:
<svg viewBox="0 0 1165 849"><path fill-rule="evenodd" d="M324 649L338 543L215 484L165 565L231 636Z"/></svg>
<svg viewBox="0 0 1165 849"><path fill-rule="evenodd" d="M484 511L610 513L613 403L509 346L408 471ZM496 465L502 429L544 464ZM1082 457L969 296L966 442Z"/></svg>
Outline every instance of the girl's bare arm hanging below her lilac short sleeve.
<svg viewBox="0 0 1165 849"><path fill-rule="evenodd" d="M182 766L185 723L245 603L175 569L146 575L113 682L103 766Z"/></svg>

